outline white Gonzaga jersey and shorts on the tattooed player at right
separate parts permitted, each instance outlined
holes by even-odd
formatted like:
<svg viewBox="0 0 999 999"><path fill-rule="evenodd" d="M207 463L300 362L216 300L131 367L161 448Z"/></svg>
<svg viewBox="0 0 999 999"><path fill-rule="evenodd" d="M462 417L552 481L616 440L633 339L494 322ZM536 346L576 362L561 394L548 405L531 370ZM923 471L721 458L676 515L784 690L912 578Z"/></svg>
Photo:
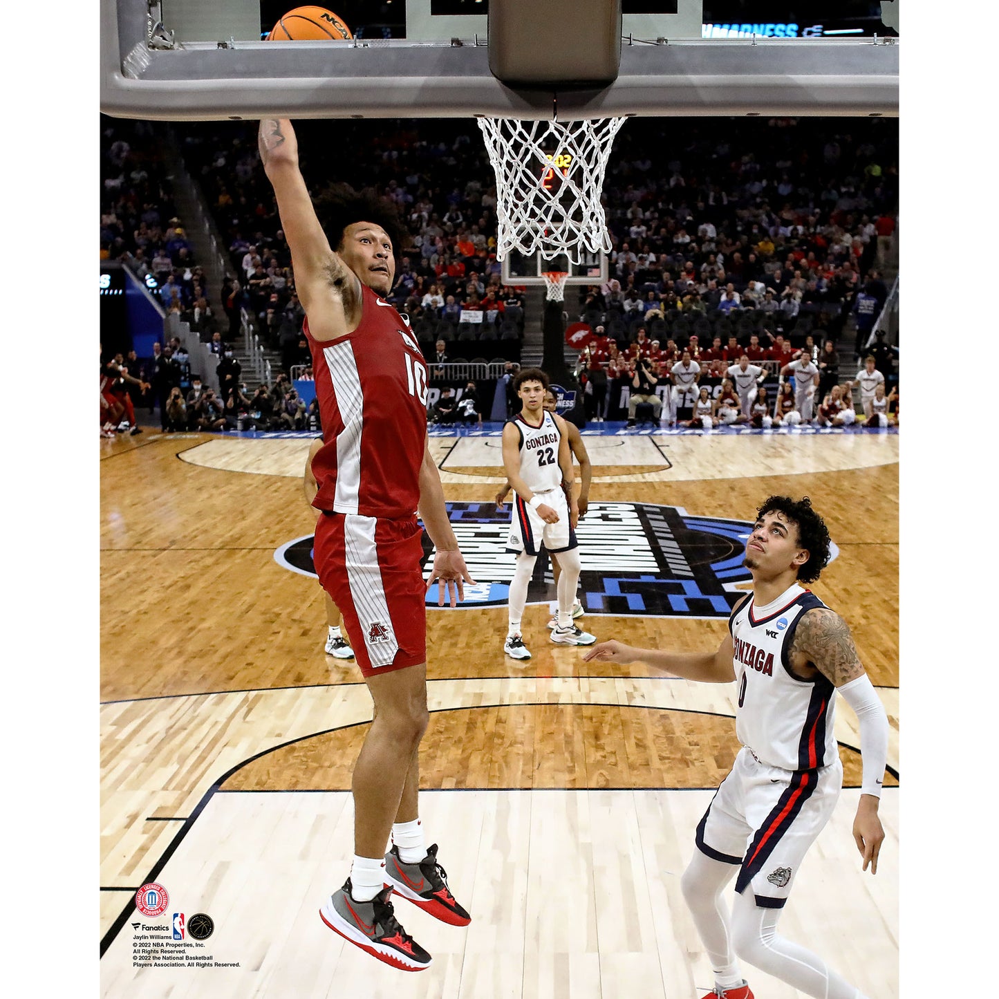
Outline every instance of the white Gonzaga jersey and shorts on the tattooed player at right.
<svg viewBox="0 0 999 999"><path fill-rule="evenodd" d="M772 603L744 601L728 619L735 656L735 733L743 748L697 826L702 853L740 867L735 890L781 908L805 852L832 815L843 780L833 735L836 689L793 676L801 614L825 604L795 583Z"/></svg>

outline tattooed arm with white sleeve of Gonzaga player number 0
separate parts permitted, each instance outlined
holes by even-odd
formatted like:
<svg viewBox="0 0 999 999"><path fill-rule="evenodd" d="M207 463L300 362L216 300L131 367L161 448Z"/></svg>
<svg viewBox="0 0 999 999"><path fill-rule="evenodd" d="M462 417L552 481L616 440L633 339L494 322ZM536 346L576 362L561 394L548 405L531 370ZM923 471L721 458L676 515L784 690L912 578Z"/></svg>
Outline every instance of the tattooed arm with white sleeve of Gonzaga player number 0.
<svg viewBox="0 0 999 999"><path fill-rule="evenodd" d="M877 873L877 858L884 840L878 818L881 785L888 760L888 716L874 690L853 644L846 621L828 607L815 607L801 617L790 649L792 656L805 656L853 708L860 725L860 756L863 778L860 801L853 820L853 839L863 857Z"/></svg>

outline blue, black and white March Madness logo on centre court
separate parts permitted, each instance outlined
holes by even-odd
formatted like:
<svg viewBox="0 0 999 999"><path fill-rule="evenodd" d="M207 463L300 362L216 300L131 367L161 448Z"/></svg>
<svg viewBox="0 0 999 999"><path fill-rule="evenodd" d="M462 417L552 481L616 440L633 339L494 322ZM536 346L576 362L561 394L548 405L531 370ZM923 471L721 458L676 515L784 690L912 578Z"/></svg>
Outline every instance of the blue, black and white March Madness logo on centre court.
<svg viewBox="0 0 999 999"><path fill-rule="evenodd" d="M509 502L449 502L455 535L475 586L465 587L463 607L505 604L514 555L506 550ZM642 617L727 617L747 582L742 566L748 520L692 516L679 506L639 502L591 502L575 528L579 541L579 599L587 613ZM313 535L282 545L275 559L293 572L316 575ZM831 558L838 549L830 545ZM430 572L434 546L424 534L423 565ZM534 564L528 603L555 598L551 566L543 554ZM427 594L437 606L437 586Z"/></svg>

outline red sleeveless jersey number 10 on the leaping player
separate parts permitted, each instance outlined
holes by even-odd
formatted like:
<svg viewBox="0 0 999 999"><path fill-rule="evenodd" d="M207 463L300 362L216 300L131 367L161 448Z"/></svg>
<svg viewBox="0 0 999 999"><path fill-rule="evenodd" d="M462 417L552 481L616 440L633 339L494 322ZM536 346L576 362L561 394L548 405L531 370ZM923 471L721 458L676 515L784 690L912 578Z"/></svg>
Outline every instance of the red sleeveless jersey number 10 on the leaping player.
<svg viewBox="0 0 999 999"><path fill-rule="evenodd" d="M309 332L324 445L313 505L362 516L412 516L427 437L427 363L407 320L362 285L358 328L322 343Z"/></svg>

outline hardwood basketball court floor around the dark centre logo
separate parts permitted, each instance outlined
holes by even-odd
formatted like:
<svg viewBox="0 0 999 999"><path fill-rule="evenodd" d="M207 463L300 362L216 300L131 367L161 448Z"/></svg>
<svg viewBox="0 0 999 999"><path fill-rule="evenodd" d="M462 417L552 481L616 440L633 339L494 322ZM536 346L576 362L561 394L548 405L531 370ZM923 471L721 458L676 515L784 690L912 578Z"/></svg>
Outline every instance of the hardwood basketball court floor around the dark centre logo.
<svg viewBox="0 0 999 999"><path fill-rule="evenodd" d="M836 558L812 588L850 623L898 760L898 436L585 437L594 503L749 520L772 493L812 497ZM498 437L436 437L454 503L489 503ZM147 434L102 442L101 927L107 996L692 996L711 975L679 894L693 830L734 757L733 690L583 663L547 639L502 653L505 607L428 612L431 725L422 815L473 912L457 929L397 903L435 955L406 975L321 923L349 870L350 773L371 718L360 671L323 652L314 578L275 552L311 534L305 437ZM585 558L585 541L583 557ZM512 560L512 556L509 556ZM583 618L598 638L695 648L722 617ZM868 995L897 994L898 791L878 875L850 835L859 737L840 702L845 789L781 931ZM208 913L206 946L239 967L135 967L132 902ZM752 972L757 995L793 990Z"/></svg>

